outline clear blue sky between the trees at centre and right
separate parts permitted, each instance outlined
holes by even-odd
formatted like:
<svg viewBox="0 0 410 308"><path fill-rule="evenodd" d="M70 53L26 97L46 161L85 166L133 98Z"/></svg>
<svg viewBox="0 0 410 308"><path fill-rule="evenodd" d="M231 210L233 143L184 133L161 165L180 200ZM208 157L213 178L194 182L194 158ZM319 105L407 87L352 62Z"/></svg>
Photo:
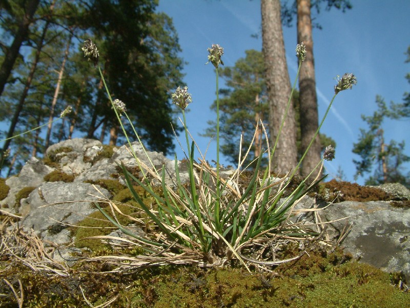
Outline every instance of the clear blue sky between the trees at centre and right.
<svg viewBox="0 0 410 308"><path fill-rule="evenodd" d="M290 1L291 2L291 1ZM353 181L356 172L352 153L360 128L367 128L360 115L371 115L376 110L376 95L388 103L402 101L410 91L404 76L410 72L404 52L410 45L410 1L359 0L351 1L353 9L322 10L315 14L323 29L313 31L316 86L319 119L323 116L334 94L334 78L345 72L357 77L352 90L339 93L321 131L336 143L336 159L326 162L330 176L340 166L345 180ZM173 18L178 32L180 54L188 64L184 81L192 94L193 103L187 113L188 128L204 151L209 138L200 137L207 121L216 115L210 110L215 100L215 73L207 62L207 48L219 44L224 48L225 66L234 66L244 57L245 50L261 50L260 1L250 0L160 0L158 11ZM259 34L259 38L251 37ZM283 28L286 56L291 83L296 76L296 26ZM410 156L410 120L386 121L385 140L404 140L405 153ZM207 160L215 160L216 142L210 144ZM177 156L182 151L177 146ZM356 157L357 159L358 157ZM224 163L224 159L221 159ZM408 165L407 165L408 166ZM408 170L408 168L407 168ZM363 184L363 178L357 180Z"/></svg>

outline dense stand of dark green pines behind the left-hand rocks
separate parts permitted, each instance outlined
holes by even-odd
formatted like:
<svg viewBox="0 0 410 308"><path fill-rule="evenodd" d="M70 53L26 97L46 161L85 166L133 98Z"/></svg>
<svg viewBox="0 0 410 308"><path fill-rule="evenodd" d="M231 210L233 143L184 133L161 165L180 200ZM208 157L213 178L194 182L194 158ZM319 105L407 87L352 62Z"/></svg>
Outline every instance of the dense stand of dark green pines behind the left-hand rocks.
<svg viewBox="0 0 410 308"><path fill-rule="evenodd" d="M6 176L73 134L111 145L124 142L103 83L81 51L89 37L99 48L113 99L126 102L145 145L164 153L173 149L172 126L176 131L180 126L169 98L182 84L183 61L172 20L156 13L156 5L152 0L1 2L0 121L7 128L0 138L47 124L73 107L63 120L4 143L3 152L10 148Z"/></svg>

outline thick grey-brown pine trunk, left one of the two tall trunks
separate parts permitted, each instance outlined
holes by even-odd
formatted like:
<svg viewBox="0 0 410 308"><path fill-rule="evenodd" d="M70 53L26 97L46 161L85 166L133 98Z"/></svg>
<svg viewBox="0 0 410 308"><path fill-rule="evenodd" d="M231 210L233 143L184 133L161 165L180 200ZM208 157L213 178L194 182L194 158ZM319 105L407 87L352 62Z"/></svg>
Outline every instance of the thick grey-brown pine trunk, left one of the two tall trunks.
<svg viewBox="0 0 410 308"><path fill-rule="evenodd" d="M280 20L279 0L262 0L262 49L266 67L271 147L278 136L286 105L291 95ZM296 126L291 104L273 157L277 172L288 172L296 166Z"/></svg>

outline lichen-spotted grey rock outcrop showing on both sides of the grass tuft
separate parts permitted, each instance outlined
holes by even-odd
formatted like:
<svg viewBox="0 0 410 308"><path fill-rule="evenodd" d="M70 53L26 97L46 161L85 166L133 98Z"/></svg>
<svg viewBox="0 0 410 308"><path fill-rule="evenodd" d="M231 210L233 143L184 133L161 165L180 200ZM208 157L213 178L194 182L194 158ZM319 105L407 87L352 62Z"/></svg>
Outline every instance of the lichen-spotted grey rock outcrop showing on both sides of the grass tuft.
<svg viewBox="0 0 410 308"><path fill-rule="evenodd" d="M159 170L164 166L167 184L176 185L175 161L162 153L147 151L149 160L144 148L138 143L133 143L133 150L146 165L153 165ZM98 211L93 205L98 197L113 197L109 189L99 185L98 181L125 183L117 165L120 162L127 168L138 170L126 146L108 147L91 139L73 139L54 144L47 149L44 160L31 158L18 176L6 180L10 190L0 205L2 210L23 215L20 225L26 230L33 228L44 240L64 247L64 244L73 241L68 226L76 225ZM178 161L177 165L181 182L187 182L189 178L185 163ZM224 171L223 174L229 176L232 170ZM395 196L395 200L410 199L410 191L399 184L379 188ZM304 197L295 210L311 208L313 205L314 199ZM384 271L403 271L410 281L408 207L393 207L386 201L344 201L321 210L320 215L324 220L335 221L328 228L334 239L340 236L346 222L351 224L350 232L341 242L346 251ZM348 218L339 220L344 217ZM312 216L299 213L293 219L309 222ZM69 252L62 250L60 254L66 258L61 261L67 261Z"/></svg>

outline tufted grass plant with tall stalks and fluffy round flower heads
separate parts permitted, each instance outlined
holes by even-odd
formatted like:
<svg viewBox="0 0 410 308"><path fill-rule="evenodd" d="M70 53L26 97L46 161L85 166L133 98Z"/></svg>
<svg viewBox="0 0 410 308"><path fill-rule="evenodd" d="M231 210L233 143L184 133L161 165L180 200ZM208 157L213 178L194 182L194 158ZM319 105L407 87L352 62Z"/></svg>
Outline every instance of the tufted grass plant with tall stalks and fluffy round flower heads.
<svg viewBox="0 0 410 308"><path fill-rule="evenodd" d="M162 166L161 171L158 171L150 161L147 152L146 155L151 165L146 165L136 157L130 138L122 123L121 114L125 114L138 142L142 148L145 147L141 143L138 133L127 115L126 105L118 99L112 100L111 98L104 76L98 65L98 49L91 39L85 42L82 49L88 60L92 61L98 69L112 108L128 141L129 150L142 171L142 178L131 174L122 162L117 163L124 172L126 185L136 203L145 212L150 220L150 224L154 226L150 228L150 233L146 233L145 236L133 234L125 225L119 223L116 216L120 215L120 213L115 211L116 206L113 202L106 200L106 202L110 204L109 211L104 210L96 203L96 207L109 221L130 236L134 241L133 244L144 248L147 252L147 254L143 256L136 256L132 259L127 258L128 263L131 262L136 266L138 264L146 266L150 264L158 265L167 263L200 263L202 266L222 266L231 260L238 260L249 271L248 264L250 263L260 266L272 266L295 260L304 255L305 252L301 251L298 256L288 260L267 260L275 256L272 243L279 245L288 242L289 239L293 241L300 239L313 240L316 236L320 235L320 232L308 232L300 228L298 225L291 223L288 218L298 200L323 178L316 179L310 186L306 185L306 178L285 200L281 198L285 188L295 176L310 146L306 149L298 165L288 174L287 178L281 181L274 182L270 177L270 163L265 170L261 170L262 156L268 155L270 161L273 158L279 134L291 104L291 99L288 101L286 113L284 114L273 148L270 148L269 142L267 141L268 150L261 152L260 156L254 161L255 167L252 170L253 175L248 186L240 187L237 183L240 175L249 168L241 164L248 155L249 149L245 157L239 157L239 164L233 172L233 175L228 179L222 178L219 165L218 68L220 65L223 65L221 60L223 48L219 45L212 45L212 47L208 49L208 63L212 63L216 71L216 170L207 163L206 157L202 155L200 149L191 137L186 125L185 113L186 107L192 102L191 94L188 93L187 87L178 87L171 98L172 102L177 105L182 112L182 119L180 119L180 121L185 130L186 149L184 152L186 162L185 165L178 164L177 157L175 156L176 189L174 189L174 187L171 187L165 181L165 166ZM300 65L305 56L303 44L297 46L296 54L299 58L300 69ZM299 69L296 80L298 78ZM296 80L292 91L296 86ZM353 74L344 74L341 79L338 79L338 84L335 86L335 95L324 118L338 92L352 88L354 84L356 84L356 78ZM323 124L324 118L320 123L316 135ZM200 155L198 161L195 160L196 152ZM334 149L328 147L323 159L333 158ZM322 165L323 159L318 162L316 168ZM179 171L181 166L188 169L189 183L187 184L181 183ZM313 171L314 170L312 170L312 172ZM155 181L152 181L152 179ZM154 189L154 182L160 183L159 186L162 189L162 196ZM142 201L142 198L134 189L133 183L137 183L153 197L155 209L153 209L152 206L147 206ZM279 186L279 188L275 186Z"/></svg>

